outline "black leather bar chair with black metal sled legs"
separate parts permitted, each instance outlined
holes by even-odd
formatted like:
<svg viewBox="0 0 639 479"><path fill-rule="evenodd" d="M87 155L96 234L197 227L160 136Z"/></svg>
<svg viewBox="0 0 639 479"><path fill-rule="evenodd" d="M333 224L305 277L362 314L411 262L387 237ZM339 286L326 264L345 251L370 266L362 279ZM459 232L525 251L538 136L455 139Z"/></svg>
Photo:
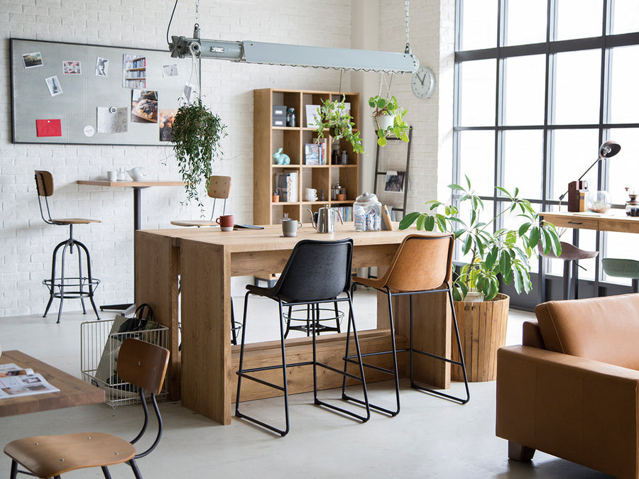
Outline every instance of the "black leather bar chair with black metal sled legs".
<svg viewBox="0 0 639 479"><path fill-rule="evenodd" d="M235 402L235 415L247 419L254 424L263 426L266 429L285 436L289 431L289 419L288 419L288 373L287 368L294 366L313 366L313 396L315 404L318 404L329 409L333 409L342 414L349 415L361 422L366 422L371 417L371 412L368 407L368 395L366 392L366 380L364 379L364 368L361 363L361 351L359 349L359 338L357 336L357 329L355 326L355 319L353 316L353 303L351 300L351 264L353 258L353 240L347 238L338 241L315 241L315 240L302 240L295 245L293 252L288 258L282 274L280 275L278 282L273 287L258 287L255 285L246 285L246 292L244 297L244 320L242 323L242 338L241 349L239 358L239 369L237 371L237 396ZM280 351L282 357L281 365L267 365L258 368L244 368L244 345L246 337L246 312L249 306L249 296L256 294L258 296L267 297L275 300L279 304L280 311ZM345 297L342 296L345 295ZM338 297L339 296L339 297ZM351 326L353 327L355 348L359 358L359 376L347 372L347 364L344 361L344 370L334 368L332 365L322 363L317 360L317 345L315 336L317 332L315 325L317 321L311 321L312 324L312 360L302 361L298 363L286 363L286 351L285 351L285 338L284 338L284 325L285 317L283 314L284 308L288 306L302 306L310 304L312 306L311 311L315 316L317 313L316 305L322 303L333 302L348 302L349 304L349 331ZM348 355L348 341L346 341L346 355ZM355 361L353 361L355 362ZM317 397L317 367L330 370L334 373L344 376L344 378L351 378L357 382L361 382L362 392L364 400L360 401L366 407L366 415L356 414L356 412L343 409L342 407L334 406L320 400ZM283 385L278 385L273 382L268 382L262 378L257 378L252 373L258 373L266 370L282 370ZM284 393L284 412L285 412L285 429L278 429L271 424L267 424L259 419L255 419L247 414L240 412L239 405L241 399L241 386L242 380L249 379L256 381L262 385L273 387Z"/></svg>

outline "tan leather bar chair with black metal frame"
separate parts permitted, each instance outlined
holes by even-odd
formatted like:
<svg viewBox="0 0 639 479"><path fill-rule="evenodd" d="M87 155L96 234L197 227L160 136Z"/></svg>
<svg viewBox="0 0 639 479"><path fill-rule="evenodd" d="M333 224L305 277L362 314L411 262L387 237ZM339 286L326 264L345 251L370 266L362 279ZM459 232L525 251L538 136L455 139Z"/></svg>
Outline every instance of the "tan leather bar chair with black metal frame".
<svg viewBox="0 0 639 479"><path fill-rule="evenodd" d="M399 393L399 373L397 366L397 353L408 351L410 354L410 387L418 390L430 392L433 395L445 397L449 400L459 402L460 404L466 404L470 400L470 392L468 388L468 378L466 377L466 363L464 363L464 354L461 351L461 339L459 338L459 328L457 327L457 316L455 316L455 309L453 307L452 292L450 289L450 280L452 276L452 252L453 252L454 235L419 235L411 234L404 238L395 257L391 261L391 265L386 270L386 274L379 279L354 277L353 281L356 284L373 287L376 290L386 293L388 297L388 313L391 319L391 350L381 351L378 353L366 353L361 356L366 358L368 356L378 356L381 354L393 355L393 370L387 368L381 368L377 365L364 363L367 368L381 371L393 375L395 379L395 409L387 409L374 404L370 404L371 408L378 411L385 412L395 416L400 412L400 393ZM442 356L437 356L432 353L420 351L413 345L413 295L415 294L430 294L436 292L446 292L450 302L450 309L452 312L452 324L455 330L455 337L457 338L457 348L459 348L459 361L455 361ZM410 332L410 347L407 349L397 349L395 346L395 320L393 319L393 297L408 296L409 304L409 332ZM350 331L347 331L347 337L350 335ZM466 397L454 397L444 392L430 389L428 387L422 387L415 383L413 356L414 354L421 354L423 356L429 356L438 360L446 361L447 363L459 365L464 375L464 385L466 386ZM354 359L347 355L347 360L353 361ZM346 392L342 386L342 396L348 400L359 402L353 397L346 396Z"/></svg>

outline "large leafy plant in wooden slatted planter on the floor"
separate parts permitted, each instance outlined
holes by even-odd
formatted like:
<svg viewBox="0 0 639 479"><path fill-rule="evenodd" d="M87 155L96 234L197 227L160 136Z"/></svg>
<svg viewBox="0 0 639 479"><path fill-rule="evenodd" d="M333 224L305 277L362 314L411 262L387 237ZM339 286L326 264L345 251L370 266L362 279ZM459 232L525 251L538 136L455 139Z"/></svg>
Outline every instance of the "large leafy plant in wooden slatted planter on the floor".
<svg viewBox="0 0 639 479"><path fill-rule="evenodd" d="M399 227L407 229L416 223L418 230L454 233L461 253L469 255L452 285L454 310L459 329L464 331L460 336L469 380L486 381L496 377L497 349L506 341L509 298L499 293L499 276L507 285L513 283L518 294L528 293L532 289L530 259L537 258L537 245L541 244L545 253L552 250L556 255L561 254L561 245L555 226L540 222L539 214L528 200L519 197L517 188L511 194L496 187L508 199L508 204L486 221L484 202L471 188L468 177L466 185L449 185L453 194L460 195L459 207L432 200L426 202L427 212L407 214ZM462 205L469 207L469 219L461 218ZM443 207L443 213L437 211L439 207ZM516 216L523 221L516 229L493 231L501 216ZM483 298L471 302L474 293ZM481 321L476 321L477 318ZM488 351L484 345L491 345ZM453 378L459 380L461 374L454 372Z"/></svg>

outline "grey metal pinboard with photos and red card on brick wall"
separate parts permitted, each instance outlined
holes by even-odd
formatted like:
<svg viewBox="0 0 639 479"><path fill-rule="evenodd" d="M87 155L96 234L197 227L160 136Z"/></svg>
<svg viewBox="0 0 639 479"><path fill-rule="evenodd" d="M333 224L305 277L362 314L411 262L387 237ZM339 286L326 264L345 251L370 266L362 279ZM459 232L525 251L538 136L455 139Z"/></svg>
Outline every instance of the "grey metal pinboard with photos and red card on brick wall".
<svg viewBox="0 0 639 479"><path fill-rule="evenodd" d="M167 145L191 68L168 50L12 38L13 143Z"/></svg>

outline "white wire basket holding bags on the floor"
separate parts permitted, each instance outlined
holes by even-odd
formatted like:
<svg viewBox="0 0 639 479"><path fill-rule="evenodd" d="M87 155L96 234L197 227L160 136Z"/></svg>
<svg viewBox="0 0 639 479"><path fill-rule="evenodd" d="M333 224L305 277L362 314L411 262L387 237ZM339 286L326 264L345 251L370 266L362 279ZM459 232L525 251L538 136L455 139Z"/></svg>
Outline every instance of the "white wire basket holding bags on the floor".
<svg viewBox="0 0 639 479"><path fill-rule="evenodd" d="M111 333L113 324L114 319L85 321L80 324L80 372L82 380L104 390L105 402L109 406L117 407L140 402L140 392L136 386L122 381L116 374L109 374L116 369L117 354L122 341L126 338L136 338L168 348L168 328L159 326L143 331ZM165 386L160 394L156 395L158 400L165 400L167 396Z"/></svg>

